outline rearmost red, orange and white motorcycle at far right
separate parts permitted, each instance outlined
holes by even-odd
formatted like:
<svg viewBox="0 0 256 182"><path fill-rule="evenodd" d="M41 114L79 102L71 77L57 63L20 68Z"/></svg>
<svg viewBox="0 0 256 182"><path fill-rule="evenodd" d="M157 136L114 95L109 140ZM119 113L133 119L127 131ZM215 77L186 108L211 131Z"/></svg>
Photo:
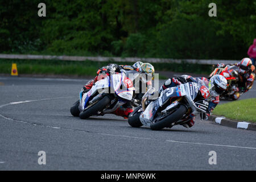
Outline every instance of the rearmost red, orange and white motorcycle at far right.
<svg viewBox="0 0 256 182"><path fill-rule="evenodd" d="M224 93L220 95L221 99L233 99L232 95L235 92L238 92L238 67L236 65L226 66L224 68L215 68L212 73L210 73L209 77L212 77L214 75L222 75L226 78L226 81L228 81L227 89ZM241 93L239 93L241 95Z"/></svg>

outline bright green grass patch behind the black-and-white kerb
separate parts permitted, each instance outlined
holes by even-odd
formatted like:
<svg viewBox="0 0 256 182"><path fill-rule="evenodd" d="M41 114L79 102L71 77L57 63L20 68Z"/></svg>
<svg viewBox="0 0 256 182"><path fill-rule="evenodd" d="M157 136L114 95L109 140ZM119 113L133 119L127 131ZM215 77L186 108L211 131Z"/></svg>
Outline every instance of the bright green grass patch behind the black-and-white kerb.
<svg viewBox="0 0 256 182"><path fill-rule="evenodd" d="M217 105L213 114L223 115L230 119L256 122L256 98Z"/></svg>

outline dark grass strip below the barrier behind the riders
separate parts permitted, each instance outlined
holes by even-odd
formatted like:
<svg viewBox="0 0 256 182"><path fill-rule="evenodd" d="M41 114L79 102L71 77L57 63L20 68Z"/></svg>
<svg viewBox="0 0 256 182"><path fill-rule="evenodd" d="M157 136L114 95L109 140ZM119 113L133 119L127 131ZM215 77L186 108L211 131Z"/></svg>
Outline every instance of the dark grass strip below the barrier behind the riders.
<svg viewBox="0 0 256 182"><path fill-rule="evenodd" d="M11 64L16 63L19 74L40 74L40 75L76 75L76 76L95 76L98 68L113 63L110 61L60 61L60 60L0 60L0 73L11 73ZM117 62L116 62L117 63ZM131 65L133 63L117 63ZM210 65L199 64L170 64L154 63L152 64L157 71L206 73L211 71ZM164 76L159 76L165 79Z"/></svg>

